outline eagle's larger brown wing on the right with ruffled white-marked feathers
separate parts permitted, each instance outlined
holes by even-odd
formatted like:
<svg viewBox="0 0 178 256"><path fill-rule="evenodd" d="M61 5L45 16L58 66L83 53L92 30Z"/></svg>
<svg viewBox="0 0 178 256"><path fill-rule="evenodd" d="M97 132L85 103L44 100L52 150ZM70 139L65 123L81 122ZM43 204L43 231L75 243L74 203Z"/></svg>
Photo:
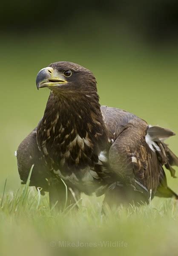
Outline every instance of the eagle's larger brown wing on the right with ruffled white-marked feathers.
<svg viewBox="0 0 178 256"><path fill-rule="evenodd" d="M136 190L151 190L154 195L159 186L167 188L162 166L174 176L171 165L178 165L178 158L162 140L175 134L161 127L149 127L144 120L117 108L101 107L101 111L112 141L109 149L112 171Z"/></svg>

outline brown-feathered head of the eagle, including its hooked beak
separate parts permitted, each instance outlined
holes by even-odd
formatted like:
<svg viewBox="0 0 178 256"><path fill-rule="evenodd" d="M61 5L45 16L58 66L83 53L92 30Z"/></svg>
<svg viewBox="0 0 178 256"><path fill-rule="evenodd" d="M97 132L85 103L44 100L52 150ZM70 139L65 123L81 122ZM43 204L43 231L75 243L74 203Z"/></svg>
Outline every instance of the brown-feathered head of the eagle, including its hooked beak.
<svg viewBox="0 0 178 256"><path fill-rule="evenodd" d="M96 92L96 79L86 68L67 61L50 64L39 71L37 89L48 87L55 94Z"/></svg>

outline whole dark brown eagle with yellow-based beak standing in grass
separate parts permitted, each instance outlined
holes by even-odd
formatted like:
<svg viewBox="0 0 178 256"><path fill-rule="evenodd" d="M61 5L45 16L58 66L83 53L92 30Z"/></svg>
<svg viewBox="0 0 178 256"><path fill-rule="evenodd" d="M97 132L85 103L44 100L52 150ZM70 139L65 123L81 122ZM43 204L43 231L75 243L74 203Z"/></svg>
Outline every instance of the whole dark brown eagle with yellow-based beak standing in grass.
<svg viewBox="0 0 178 256"><path fill-rule="evenodd" d="M20 143L17 166L25 184L49 192L50 206L73 204L80 193L105 194L104 204L149 204L154 196L178 199L164 166L178 157L164 140L171 130L148 125L127 111L100 106L93 73L59 61L39 71L37 89L50 89L43 118ZM67 201L66 201L67 192Z"/></svg>

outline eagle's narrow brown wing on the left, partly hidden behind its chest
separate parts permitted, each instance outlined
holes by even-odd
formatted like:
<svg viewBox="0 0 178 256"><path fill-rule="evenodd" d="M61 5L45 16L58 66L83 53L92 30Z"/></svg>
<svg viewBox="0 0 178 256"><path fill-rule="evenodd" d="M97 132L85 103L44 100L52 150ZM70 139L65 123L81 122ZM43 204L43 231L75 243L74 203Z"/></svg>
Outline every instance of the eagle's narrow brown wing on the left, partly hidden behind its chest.
<svg viewBox="0 0 178 256"><path fill-rule="evenodd" d="M17 149L17 166L22 184L25 184L30 169L34 165L30 178L30 186L43 188L48 191L48 170L43 163L43 158L37 146L35 128L19 145Z"/></svg>

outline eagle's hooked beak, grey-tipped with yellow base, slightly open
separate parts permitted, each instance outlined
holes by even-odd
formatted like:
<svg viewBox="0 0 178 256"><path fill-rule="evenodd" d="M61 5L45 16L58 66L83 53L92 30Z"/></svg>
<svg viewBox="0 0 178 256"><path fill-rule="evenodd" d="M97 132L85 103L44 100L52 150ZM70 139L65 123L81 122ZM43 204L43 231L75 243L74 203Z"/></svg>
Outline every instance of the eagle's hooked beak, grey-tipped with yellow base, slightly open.
<svg viewBox="0 0 178 256"><path fill-rule="evenodd" d="M54 70L52 67L42 68L37 74L37 89L52 86L57 87L60 84L64 83L67 83L67 81L65 81L63 77L60 78L59 73L57 73L57 71Z"/></svg>

